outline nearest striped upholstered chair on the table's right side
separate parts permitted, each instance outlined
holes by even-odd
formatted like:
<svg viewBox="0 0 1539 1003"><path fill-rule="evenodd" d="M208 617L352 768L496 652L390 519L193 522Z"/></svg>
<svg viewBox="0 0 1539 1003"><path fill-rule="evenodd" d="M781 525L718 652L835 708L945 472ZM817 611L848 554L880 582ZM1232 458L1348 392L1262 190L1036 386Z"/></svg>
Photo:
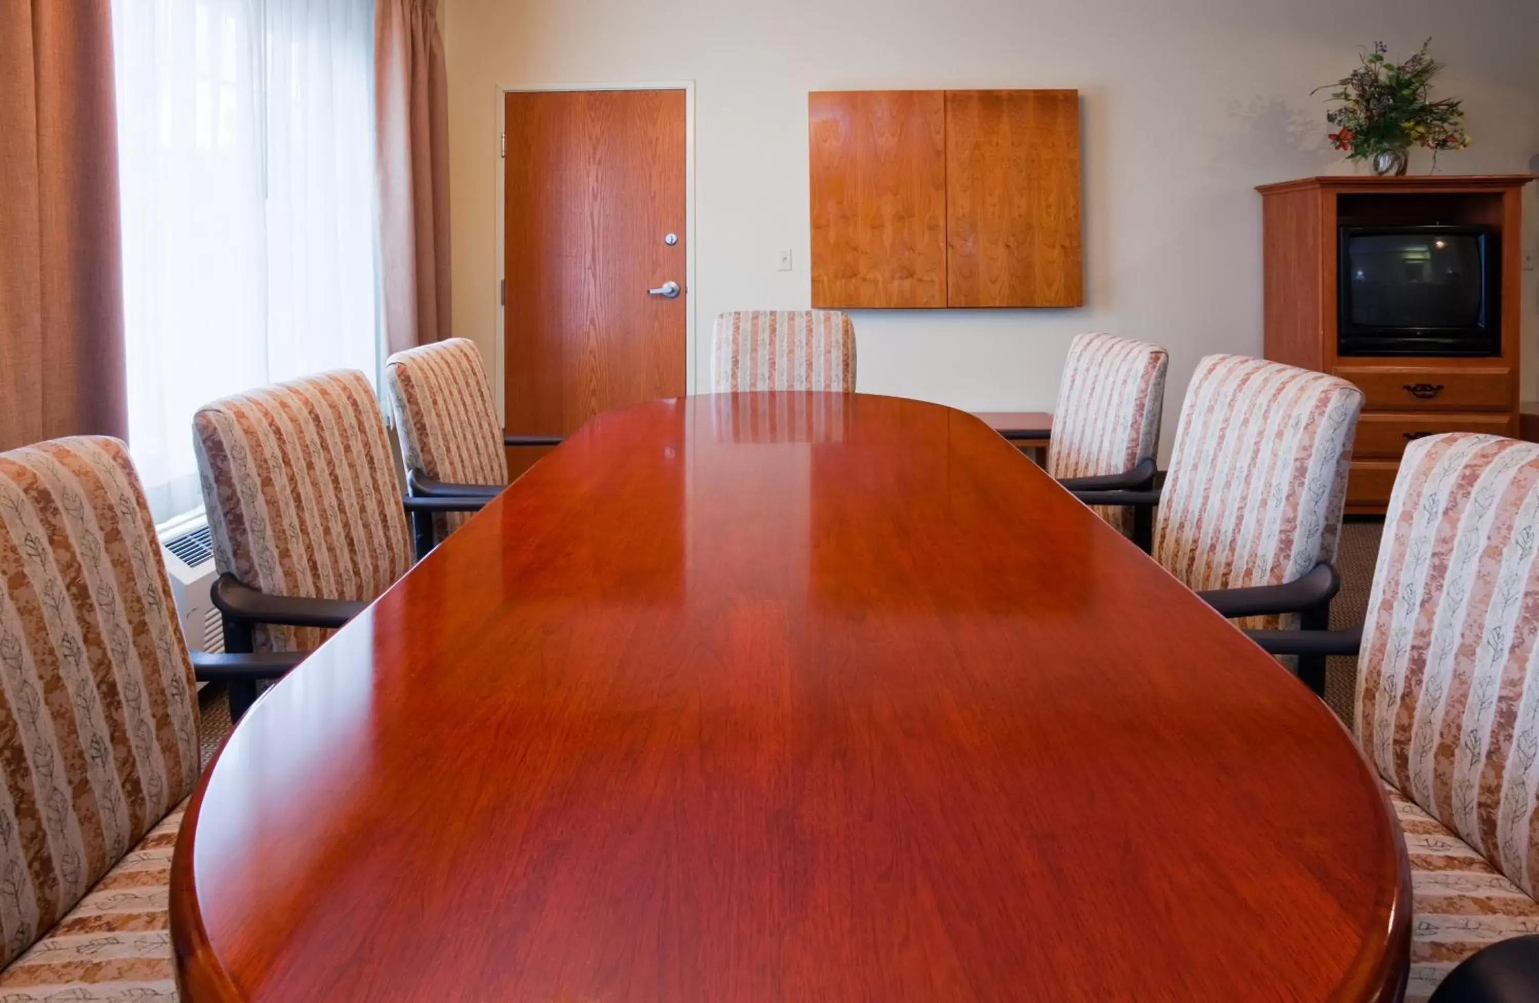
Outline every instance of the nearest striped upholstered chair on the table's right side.
<svg viewBox="0 0 1539 1003"><path fill-rule="evenodd" d="M1411 866L1407 1000L1539 932L1539 445L1411 443L1362 628L1251 635L1274 654L1357 655L1353 729ZM1513 995L1479 991L1502 983ZM1476 955L1436 995L1502 998L1539 998L1534 938Z"/></svg>

